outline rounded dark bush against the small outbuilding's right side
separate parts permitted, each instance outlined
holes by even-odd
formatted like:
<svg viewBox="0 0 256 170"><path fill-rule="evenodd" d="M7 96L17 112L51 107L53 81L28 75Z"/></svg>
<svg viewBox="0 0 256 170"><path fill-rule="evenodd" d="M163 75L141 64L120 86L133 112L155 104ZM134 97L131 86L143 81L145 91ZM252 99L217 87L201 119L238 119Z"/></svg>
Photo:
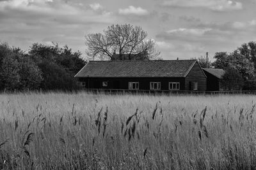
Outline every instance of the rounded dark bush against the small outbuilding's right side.
<svg viewBox="0 0 256 170"><path fill-rule="evenodd" d="M226 67L223 75L223 87L228 90L241 90L243 88L243 77L234 67Z"/></svg>

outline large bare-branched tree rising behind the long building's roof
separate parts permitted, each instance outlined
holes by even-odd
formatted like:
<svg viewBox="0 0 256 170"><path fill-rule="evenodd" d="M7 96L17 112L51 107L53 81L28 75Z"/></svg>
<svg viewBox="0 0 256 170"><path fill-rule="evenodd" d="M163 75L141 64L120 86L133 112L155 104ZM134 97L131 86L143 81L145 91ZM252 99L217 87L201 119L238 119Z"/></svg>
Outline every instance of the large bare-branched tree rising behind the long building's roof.
<svg viewBox="0 0 256 170"><path fill-rule="evenodd" d="M130 24L111 25L103 34L88 34L85 38L87 53L93 58L148 60L156 59L160 54L155 48L156 42L147 39L147 32Z"/></svg>

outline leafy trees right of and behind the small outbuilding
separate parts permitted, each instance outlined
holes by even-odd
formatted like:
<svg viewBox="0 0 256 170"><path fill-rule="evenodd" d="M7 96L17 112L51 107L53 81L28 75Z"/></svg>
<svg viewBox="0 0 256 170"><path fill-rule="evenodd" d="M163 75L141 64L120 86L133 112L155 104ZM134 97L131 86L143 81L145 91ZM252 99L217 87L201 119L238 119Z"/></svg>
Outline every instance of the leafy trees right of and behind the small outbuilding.
<svg viewBox="0 0 256 170"><path fill-rule="evenodd" d="M198 62L206 67L205 57ZM234 52L216 52L208 67L224 69L223 86L226 90L256 90L256 42L243 43Z"/></svg>

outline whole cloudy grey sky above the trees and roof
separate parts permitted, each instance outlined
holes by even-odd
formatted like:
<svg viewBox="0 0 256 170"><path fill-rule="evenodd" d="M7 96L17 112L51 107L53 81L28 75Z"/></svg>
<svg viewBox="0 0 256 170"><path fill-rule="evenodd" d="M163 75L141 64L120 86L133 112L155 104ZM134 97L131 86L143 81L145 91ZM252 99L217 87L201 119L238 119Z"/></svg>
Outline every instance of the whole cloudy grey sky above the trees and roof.
<svg viewBox="0 0 256 170"><path fill-rule="evenodd" d="M43 43L79 50L109 25L141 26L163 59L232 52L256 41L256 0L0 0L0 42L28 50Z"/></svg>

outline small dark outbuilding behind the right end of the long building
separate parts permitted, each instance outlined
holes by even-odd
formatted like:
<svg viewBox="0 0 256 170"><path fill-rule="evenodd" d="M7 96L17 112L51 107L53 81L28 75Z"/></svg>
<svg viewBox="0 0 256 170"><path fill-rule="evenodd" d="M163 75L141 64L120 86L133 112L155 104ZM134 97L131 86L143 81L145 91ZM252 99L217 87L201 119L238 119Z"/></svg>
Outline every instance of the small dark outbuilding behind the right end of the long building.
<svg viewBox="0 0 256 170"><path fill-rule="evenodd" d="M222 85L222 79L225 71L223 69L203 68L203 70L205 75L207 76L207 91L224 90L224 87Z"/></svg>

